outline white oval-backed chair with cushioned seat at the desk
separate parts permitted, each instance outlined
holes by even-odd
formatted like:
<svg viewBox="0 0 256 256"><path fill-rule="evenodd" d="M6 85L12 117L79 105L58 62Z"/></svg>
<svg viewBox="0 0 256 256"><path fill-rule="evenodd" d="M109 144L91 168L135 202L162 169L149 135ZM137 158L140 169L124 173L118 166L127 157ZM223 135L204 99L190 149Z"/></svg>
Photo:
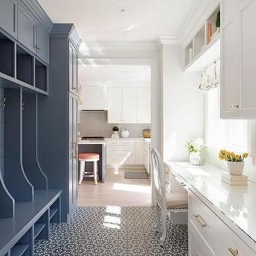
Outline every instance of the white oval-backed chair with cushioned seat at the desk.
<svg viewBox="0 0 256 256"><path fill-rule="evenodd" d="M151 170L153 170L154 189L156 190L156 214L157 224L155 225L156 231L159 230L160 214L159 209L162 209L161 223L162 223L162 236L159 239L161 245L165 244L166 238L166 219L168 214L176 214L179 212L186 212L187 193L165 193L164 171L162 167L162 160L156 148L151 150ZM171 222L171 219L170 219Z"/></svg>

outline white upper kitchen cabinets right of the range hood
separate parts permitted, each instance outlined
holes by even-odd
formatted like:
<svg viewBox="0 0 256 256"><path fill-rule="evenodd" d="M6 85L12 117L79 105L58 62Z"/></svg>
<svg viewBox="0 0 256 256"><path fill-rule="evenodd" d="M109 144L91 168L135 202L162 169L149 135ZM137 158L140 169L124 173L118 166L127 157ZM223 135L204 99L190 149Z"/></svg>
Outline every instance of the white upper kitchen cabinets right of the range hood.
<svg viewBox="0 0 256 256"><path fill-rule="evenodd" d="M109 88L108 123L150 124L150 88Z"/></svg>

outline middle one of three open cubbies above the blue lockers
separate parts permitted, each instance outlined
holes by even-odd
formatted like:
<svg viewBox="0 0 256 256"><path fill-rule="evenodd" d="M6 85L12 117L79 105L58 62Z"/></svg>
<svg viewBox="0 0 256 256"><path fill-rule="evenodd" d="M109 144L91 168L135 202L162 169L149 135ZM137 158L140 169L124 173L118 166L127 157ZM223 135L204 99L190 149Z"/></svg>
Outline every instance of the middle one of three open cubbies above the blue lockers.
<svg viewBox="0 0 256 256"><path fill-rule="evenodd" d="M34 85L34 57L17 45L17 79Z"/></svg>

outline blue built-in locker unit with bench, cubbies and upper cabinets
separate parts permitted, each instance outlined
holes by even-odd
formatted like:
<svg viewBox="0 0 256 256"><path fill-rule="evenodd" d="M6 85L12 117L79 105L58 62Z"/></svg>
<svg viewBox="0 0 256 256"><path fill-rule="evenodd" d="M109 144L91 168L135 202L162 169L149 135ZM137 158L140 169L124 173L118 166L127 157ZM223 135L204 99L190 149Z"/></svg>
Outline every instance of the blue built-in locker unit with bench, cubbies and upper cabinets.
<svg viewBox="0 0 256 256"><path fill-rule="evenodd" d="M48 80L52 26L37 0L0 1L0 256L34 255L34 241L50 236L50 222L67 219L67 184L55 183L53 168L45 169L49 158L39 155L40 107L50 97L58 101Z"/></svg>

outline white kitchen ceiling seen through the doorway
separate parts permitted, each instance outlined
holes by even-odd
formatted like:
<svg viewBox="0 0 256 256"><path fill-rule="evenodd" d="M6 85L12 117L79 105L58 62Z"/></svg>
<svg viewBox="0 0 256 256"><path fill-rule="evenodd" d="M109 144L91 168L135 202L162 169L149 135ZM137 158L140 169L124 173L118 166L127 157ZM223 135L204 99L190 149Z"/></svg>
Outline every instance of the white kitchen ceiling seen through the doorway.
<svg viewBox="0 0 256 256"><path fill-rule="evenodd" d="M78 64L80 86L150 86L151 67Z"/></svg>

